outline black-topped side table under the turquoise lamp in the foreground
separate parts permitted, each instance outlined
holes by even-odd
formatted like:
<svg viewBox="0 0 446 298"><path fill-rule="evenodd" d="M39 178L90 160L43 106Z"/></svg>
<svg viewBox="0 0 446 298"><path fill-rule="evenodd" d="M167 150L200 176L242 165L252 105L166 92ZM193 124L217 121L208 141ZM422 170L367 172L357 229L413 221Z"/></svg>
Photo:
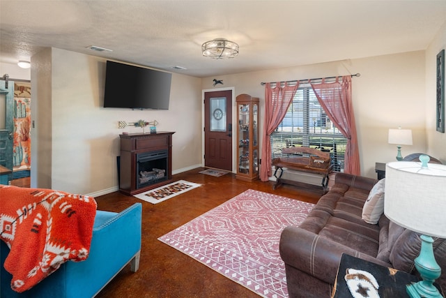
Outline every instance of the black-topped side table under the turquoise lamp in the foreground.
<svg viewBox="0 0 446 298"><path fill-rule="evenodd" d="M406 292L406 285L412 282L416 283L418 281L417 276L413 274L408 274L404 271L377 265L375 263L343 253L341 262L339 263L336 281L334 282L332 298L353 297L350 290L348 290L347 283L344 278L346 276L347 269L367 271L369 274L373 275L379 285L378 295L380 298L407 298L409 296ZM371 292L367 290L368 287L369 284L365 282L362 285L358 285L357 291L358 293L362 292L366 293L367 295L367 292ZM444 296L443 291L439 288L439 285L436 285L436 287Z"/></svg>

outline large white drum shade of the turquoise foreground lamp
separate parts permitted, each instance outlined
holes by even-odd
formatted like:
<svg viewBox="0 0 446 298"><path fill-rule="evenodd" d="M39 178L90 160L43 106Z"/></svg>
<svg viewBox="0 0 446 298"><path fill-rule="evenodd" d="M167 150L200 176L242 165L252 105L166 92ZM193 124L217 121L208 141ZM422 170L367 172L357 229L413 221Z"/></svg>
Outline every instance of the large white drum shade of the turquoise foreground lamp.
<svg viewBox="0 0 446 298"><path fill-rule="evenodd" d="M446 238L446 165L398 161L385 167L384 214L404 228Z"/></svg>

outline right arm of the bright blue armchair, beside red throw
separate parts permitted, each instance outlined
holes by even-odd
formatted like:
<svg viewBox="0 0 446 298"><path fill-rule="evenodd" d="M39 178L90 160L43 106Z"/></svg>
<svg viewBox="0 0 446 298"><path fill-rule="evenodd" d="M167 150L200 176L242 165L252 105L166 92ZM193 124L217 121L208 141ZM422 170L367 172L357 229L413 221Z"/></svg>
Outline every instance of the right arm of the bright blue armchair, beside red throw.
<svg viewBox="0 0 446 298"><path fill-rule="evenodd" d="M96 212L89 258L66 264L66 297L76 297L79 284L86 297L97 294L130 261L139 260L141 212L139 202L119 213Z"/></svg>

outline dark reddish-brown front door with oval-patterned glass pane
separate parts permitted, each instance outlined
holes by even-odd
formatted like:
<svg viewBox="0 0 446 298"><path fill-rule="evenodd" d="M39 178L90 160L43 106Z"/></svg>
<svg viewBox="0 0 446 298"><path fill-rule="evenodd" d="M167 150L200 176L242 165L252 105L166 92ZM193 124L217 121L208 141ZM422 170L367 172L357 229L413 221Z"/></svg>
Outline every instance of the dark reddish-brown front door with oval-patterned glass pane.
<svg viewBox="0 0 446 298"><path fill-rule="evenodd" d="M232 91L204 94L204 165L232 171Z"/></svg>

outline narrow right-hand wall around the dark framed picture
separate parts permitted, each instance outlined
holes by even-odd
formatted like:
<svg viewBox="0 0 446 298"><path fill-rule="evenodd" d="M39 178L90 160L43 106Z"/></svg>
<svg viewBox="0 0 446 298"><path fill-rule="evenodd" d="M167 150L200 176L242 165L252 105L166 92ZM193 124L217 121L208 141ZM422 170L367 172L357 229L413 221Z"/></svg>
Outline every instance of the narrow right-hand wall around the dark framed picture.
<svg viewBox="0 0 446 298"><path fill-rule="evenodd" d="M426 136L427 153L446 163L446 133L436 131L436 61L446 47L446 22L426 50ZM443 92L445 92L443 90ZM444 93L443 93L444 94ZM443 107L444 108L444 107Z"/></svg>

